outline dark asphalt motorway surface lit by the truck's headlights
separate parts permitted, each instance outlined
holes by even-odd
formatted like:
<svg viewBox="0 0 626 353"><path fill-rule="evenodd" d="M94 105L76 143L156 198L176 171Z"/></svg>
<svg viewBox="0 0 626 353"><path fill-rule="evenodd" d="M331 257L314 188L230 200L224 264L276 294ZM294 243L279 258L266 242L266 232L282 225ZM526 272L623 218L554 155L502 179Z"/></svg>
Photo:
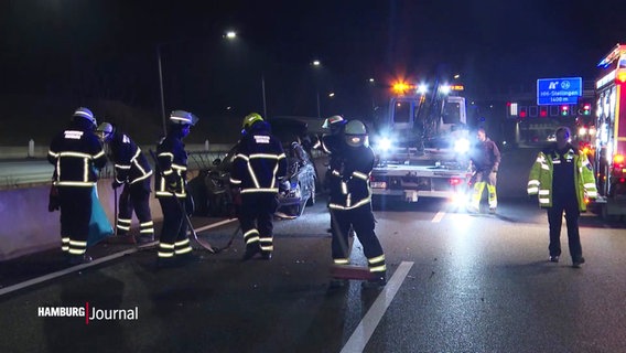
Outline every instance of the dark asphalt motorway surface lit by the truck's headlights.
<svg viewBox="0 0 626 353"><path fill-rule="evenodd" d="M503 199L496 215L422 200L376 217L382 289L330 289L322 199L276 222L270 261L241 263L239 234L229 249L160 270L154 250L131 245L97 245L84 267L58 252L2 264L0 351L626 351L623 223L583 215L587 261L576 269L565 229L561 263L548 261L546 214L527 200ZM223 246L236 222L217 221L194 220ZM365 264L358 240L352 258Z"/></svg>

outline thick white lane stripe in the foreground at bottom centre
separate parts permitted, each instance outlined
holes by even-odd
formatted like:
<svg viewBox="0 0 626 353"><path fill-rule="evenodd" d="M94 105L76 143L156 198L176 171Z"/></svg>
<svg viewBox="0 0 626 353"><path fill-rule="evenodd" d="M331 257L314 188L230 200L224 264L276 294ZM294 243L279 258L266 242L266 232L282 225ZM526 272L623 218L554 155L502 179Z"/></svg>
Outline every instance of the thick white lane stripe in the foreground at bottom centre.
<svg viewBox="0 0 626 353"><path fill-rule="evenodd" d="M363 352L365 345L371 338L374 330L376 330L378 322L380 322L385 311L387 311L387 308L391 304L391 300L396 297L398 289L400 289L400 286L407 278L412 266L412 261L402 261L400 266L398 266L398 269L396 269L391 280L387 282L387 286L385 286L385 290L378 295L378 298L376 298L371 308L369 308L365 317L363 317L358 327L348 339L348 342L346 342L346 345L342 349L342 353Z"/></svg>

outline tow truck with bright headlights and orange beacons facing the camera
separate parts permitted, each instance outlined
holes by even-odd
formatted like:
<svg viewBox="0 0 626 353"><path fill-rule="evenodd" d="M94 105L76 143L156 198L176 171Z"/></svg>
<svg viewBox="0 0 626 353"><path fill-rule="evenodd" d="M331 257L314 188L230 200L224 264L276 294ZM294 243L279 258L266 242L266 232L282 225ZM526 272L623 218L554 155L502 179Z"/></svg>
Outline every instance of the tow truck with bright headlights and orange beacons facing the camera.
<svg viewBox="0 0 626 353"><path fill-rule="evenodd" d="M452 87L454 88L454 87ZM465 98L435 81L397 83L386 116L371 136L376 165L370 185L375 205L386 199L418 202L439 197L466 200L470 150Z"/></svg>

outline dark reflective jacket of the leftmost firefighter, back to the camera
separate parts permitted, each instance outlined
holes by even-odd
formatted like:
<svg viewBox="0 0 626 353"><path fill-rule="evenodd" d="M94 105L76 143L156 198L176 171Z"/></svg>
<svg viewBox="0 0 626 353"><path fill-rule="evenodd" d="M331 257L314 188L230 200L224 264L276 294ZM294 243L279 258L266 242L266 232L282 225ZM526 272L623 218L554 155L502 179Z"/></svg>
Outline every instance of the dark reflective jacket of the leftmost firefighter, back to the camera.
<svg viewBox="0 0 626 353"><path fill-rule="evenodd" d="M54 164L56 186L91 188L98 180L98 170L107 164L102 145L87 121L74 121L56 135L50 143L47 160Z"/></svg>

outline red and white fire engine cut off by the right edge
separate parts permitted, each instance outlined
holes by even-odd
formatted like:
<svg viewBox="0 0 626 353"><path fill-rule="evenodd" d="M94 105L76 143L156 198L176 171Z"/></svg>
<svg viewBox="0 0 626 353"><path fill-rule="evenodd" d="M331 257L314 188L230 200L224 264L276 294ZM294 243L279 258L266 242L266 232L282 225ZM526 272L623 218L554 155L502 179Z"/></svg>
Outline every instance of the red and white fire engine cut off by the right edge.
<svg viewBox="0 0 626 353"><path fill-rule="evenodd" d="M617 44L597 65L595 82L596 206L603 217L626 214L626 45Z"/></svg>

